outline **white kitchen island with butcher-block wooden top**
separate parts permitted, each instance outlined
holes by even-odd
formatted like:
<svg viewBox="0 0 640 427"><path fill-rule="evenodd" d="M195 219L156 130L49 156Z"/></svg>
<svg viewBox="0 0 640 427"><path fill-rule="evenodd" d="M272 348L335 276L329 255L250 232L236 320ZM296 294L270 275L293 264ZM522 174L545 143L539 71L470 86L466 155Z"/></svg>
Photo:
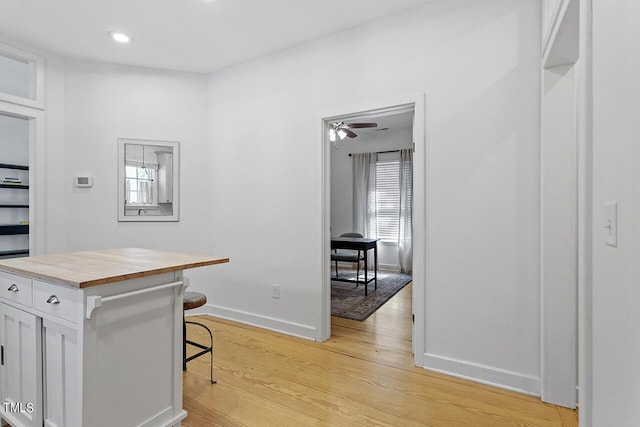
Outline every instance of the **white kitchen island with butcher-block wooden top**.
<svg viewBox="0 0 640 427"><path fill-rule="evenodd" d="M228 258L126 248L0 261L0 418L179 426L186 269Z"/></svg>

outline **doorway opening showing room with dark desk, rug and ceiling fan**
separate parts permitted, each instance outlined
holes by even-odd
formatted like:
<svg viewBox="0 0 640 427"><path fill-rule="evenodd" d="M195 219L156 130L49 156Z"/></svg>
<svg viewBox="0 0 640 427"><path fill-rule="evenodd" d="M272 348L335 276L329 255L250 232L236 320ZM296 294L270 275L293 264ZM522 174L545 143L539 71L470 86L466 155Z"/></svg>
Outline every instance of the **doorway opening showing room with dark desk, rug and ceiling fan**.
<svg viewBox="0 0 640 427"><path fill-rule="evenodd" d="M366 254L331 252L332 315L362 321L411 280L413 110L332 122L329 132L332 245L378 239Z"/></svg>

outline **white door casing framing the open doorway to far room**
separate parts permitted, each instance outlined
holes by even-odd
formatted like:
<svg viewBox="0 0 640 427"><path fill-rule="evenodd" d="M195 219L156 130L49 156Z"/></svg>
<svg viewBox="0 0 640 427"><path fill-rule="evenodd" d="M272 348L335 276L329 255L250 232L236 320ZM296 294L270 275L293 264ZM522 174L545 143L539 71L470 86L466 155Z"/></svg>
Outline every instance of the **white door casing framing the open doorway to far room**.
<svg viewBox="0 0 640 427"><path fill-rule="evenodd" d="M414 323L412 327L412 350L414 353L414 364L422 366L422 358L424 355L424 318L425 318L425 271L426 271L426 213L425 213L425 200L426 200L426 173L425 173L425 159L426 159L426 139L425 139L425 101L424 95L415 96L403 100L403 102L396 103L379 103L382 107L377 108L353 108L343 109L342 111L325 114L321 117L322 121L322 153L323 153L323 257L322 257L322 271L323 271L323 289L322 289L322 304L321 304L321 321L318 328L318 341L325 341L331 336L331 261L330 261L330 248L331 237L348 231L353 227L352 219L349 218L349 213L345 214L344 210L349 211L344 206L333 206L332 200L336 196L333 194L338 191L336 189L336 183L332 185L332 173L336 172L338 163L348 163L350 159L348 154L356 152L367 151L387 151L381 147L371 146L371 150L367 147L356 147L354 144L343 143L342 141L330 140L331 124L336 122L377 122L386 123L388 120L393 119L406 119L410 117L410 128L406 130L409 134L410 141L407 145L413 148L413 256L412 256L412 277L413 285L411 287L411 304L414 317ZM386 105L386 106L384 106ZM372 135L385 132L383 129L387 126L379 126L380 130L368 130L362 132L362 129L358 129L361 135L365 136L368 132ZM373 129L377 129L376 126ZM384 139L382 135L379 135L379 139ZM349 138L346 138L349 139ZM356 140L357 138L352 138ZM375 137L362 138L362 140L378 139ZM336 143L338 148L336 148ZM336 154L340 152L340 154ZM338 157L340 156L340 157ZM346 160L344 157L347 157ZM339 159L339 160L338 160ZM342 172L344 175L344 171ZM348 173L347 173L348 175ZM340 179L341 185L352 188L352 178L348 179L344 176ZM349 190L345 190L341 194L341 197L348 199L352 193ZM342 210L342 212L341 212ZM340 215L340 219L336 218L336 215ZM334 225L335 221L335 225ZM344 230L343 230L344 229ZM382 252L382 251L381 251ZM387 254L389 255L389 254ZM381 258L383 264L386 264L390 258ZM417 261L419 260L419 261Z"/></svg>

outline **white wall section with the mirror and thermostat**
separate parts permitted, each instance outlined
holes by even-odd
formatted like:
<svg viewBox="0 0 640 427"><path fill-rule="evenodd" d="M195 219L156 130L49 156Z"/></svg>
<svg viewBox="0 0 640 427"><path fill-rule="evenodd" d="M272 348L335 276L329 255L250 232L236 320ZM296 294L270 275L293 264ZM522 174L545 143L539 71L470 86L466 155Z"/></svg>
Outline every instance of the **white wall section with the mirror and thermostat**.
<svg viewBox="0 0 640 427"><path fill-rule="evenodd" d="M206 85L202 75L48 58L47 252L212 254ZM179 222L117 221L119 137L180 142ZM73 186L83 174L94 177L92 188ZM210 270L190 271L192 287L210 285Z"/></svg>

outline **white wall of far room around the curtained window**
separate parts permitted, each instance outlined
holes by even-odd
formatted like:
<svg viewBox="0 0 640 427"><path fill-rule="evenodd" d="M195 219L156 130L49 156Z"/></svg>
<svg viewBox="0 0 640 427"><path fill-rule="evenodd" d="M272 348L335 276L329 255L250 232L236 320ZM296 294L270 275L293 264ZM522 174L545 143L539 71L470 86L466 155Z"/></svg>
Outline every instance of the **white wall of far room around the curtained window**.
<svg viewBox="0 0 640 427"><path fill-rule="evenodd" d="M411 148L412 129L388 132L359 133L355 139L345 139L331 150L331 235L350 233L353 228L353 158L351 153L379 152ZM378 245L380 268L400 270L398 245Z"/></svg>

